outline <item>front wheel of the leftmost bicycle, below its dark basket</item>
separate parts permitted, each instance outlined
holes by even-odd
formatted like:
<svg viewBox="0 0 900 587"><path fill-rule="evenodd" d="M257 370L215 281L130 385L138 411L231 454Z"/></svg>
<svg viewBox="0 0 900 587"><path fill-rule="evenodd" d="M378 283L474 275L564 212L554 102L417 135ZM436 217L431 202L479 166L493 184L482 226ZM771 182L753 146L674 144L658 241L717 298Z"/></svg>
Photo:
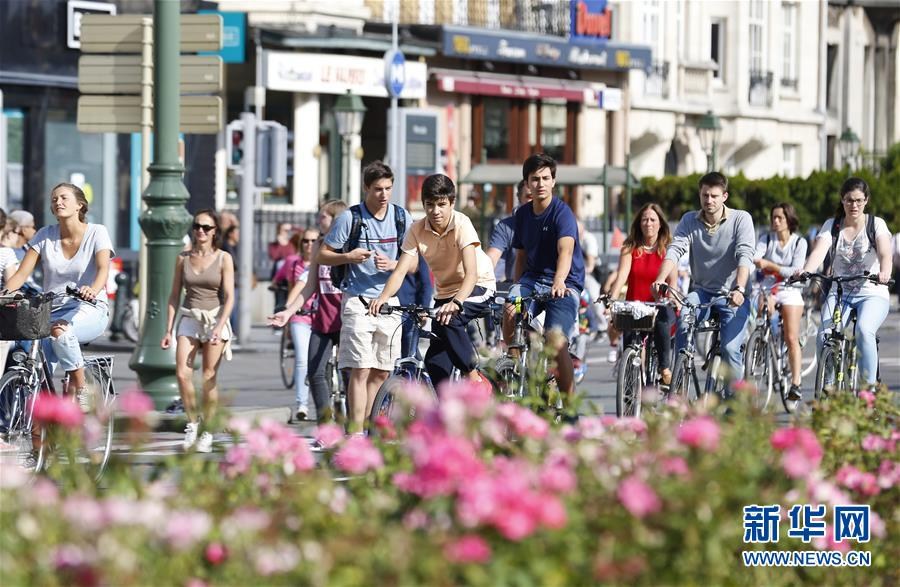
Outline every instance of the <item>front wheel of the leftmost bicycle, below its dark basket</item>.
<svg viewBox="0 0 900 587"><path fill-rule="evenodd" d="M0 378L0 465L17 465L37 473L44 465L46 430L32 428L28 375L10 371Z"/></svg>

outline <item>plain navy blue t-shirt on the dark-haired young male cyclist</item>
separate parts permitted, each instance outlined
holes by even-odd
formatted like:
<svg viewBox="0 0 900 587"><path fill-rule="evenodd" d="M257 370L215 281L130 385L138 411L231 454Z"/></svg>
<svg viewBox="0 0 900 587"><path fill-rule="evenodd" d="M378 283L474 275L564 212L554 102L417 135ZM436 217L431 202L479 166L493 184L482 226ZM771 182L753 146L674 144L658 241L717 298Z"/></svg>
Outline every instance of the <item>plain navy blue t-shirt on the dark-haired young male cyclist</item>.
<svg viewBox="0 0 900 587"><path fill-rule="evenodd" d="M513 248L524 249L527 255L523 282L553 285L556 275L557 243L564 236L575 239L572 267L566 276L566 286L581 291L584 288L584 256L578 242L578 223L575 214L565 202L553 198L539 216L534 214L534 203L528 202L515 212L516 232Z"/></svg>

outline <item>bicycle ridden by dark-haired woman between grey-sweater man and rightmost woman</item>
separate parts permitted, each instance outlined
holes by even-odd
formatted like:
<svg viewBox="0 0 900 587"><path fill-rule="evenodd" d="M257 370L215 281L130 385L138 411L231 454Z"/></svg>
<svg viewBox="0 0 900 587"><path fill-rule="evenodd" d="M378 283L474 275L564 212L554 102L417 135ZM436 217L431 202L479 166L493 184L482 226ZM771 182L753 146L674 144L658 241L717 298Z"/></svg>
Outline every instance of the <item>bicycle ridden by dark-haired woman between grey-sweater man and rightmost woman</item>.
<svg viewBox="0 0 900 587"><path fill-rule="evenodd" d="M800 400L788 399L791 388L791 367L787 360L787 343L784 342L784 323L781 304L775 304L778 314L778 329L772 329L769 310L769 296L773 286L759 286L761 313L756 316L755 327L747 338L744 352L744 378L756 387L756 406L765 410L777 388L784 410L792 414L800 405Z"/></svg>

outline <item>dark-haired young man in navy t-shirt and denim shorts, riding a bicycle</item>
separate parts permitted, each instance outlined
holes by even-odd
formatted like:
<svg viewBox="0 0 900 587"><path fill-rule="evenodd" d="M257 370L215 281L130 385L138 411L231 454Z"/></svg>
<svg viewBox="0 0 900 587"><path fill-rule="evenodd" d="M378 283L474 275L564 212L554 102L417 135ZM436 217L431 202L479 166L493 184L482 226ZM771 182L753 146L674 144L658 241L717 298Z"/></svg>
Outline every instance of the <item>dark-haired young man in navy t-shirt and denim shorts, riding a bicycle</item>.
<svg viewBox="0 0 900 587"><path fill-rule="evenodd" d="M522 177L531 191L532 201L515 213L513 248L516 265L513 278L518 283L510 288L509 297L532 293L553 296L538 304L532 315L543 310L544 332L557 330L566 338L576 333L578 300L584 288L584 257L578 242L578 223L565 202L553 197L556 185L556 161L538 153L525 160ZM507 344L512 338L514 308L507 304L503 316L503 336ZM568 344L556 349L559 390L570 398L575 393L572 357Z"/></svg>

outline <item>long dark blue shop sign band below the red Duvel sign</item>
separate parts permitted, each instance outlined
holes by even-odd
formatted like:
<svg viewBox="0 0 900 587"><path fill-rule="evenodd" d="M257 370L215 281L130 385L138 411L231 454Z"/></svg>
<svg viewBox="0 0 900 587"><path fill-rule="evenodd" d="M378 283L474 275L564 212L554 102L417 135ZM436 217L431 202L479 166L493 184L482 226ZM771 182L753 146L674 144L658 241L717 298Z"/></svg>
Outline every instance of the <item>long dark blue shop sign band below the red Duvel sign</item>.
<svg viewBox="0 0 900 587"><path fill-rule="evenodd" d="M510 33L444 27L443 53L463 59L509 61L580 69L647 69L650 47L604 41L571 40Z"/></svg>

